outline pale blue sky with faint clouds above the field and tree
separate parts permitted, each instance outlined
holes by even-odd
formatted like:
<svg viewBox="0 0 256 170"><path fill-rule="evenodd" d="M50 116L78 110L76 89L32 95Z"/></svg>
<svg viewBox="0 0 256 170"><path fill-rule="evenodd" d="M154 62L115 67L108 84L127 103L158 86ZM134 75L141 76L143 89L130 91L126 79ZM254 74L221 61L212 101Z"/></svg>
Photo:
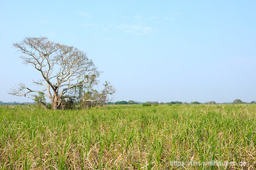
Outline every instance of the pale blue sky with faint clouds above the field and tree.
<svg viewBox="0 0 256 170"><path fill-rule="evenodd" d="M4 1L0 101L40 75L12 46L47 36L87 53L113 101L256 100L256 1Z"/></svg>

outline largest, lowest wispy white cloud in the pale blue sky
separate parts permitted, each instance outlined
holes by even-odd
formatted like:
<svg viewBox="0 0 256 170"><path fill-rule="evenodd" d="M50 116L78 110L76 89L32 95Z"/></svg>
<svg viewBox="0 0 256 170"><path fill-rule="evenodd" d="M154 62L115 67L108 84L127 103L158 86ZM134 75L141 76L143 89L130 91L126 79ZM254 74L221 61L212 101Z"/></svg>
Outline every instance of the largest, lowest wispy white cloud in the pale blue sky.
<svg viewBox="0 0 256 170"><path fill-rule="evenodd" d="M134 33L135 35L144 35L152 32L152 27L143 26L142 24L121 24L116 28L125 31L126 33Z"/></svg>

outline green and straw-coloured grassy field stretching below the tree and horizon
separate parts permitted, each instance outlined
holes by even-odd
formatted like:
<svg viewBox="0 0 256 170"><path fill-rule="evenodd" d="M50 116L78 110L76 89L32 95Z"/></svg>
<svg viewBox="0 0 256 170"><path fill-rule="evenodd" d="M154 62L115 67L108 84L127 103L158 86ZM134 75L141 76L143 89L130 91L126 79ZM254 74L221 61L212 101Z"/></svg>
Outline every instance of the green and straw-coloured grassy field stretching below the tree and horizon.
<svg viewBox="0 0 256 170"><path fill-rule="evenodd" d="M0 107L3 169L254 169L256 105ZM170 161L246 166L170 165Z"/></svg>

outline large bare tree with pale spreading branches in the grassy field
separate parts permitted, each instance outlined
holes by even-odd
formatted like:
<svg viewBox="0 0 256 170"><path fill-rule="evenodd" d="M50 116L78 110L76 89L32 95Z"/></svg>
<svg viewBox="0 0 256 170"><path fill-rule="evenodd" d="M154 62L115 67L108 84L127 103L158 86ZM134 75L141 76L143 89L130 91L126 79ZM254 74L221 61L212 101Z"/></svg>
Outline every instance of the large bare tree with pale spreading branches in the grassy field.
<svg viewBox="0 0 256 170"><path fill-rule="evenodd" d="M42 75L40 81L33 82L45 88L38 91L20 84L19 88L12 89L10 94L25 97L30 93L43 94L51 100L51 107L54 110L61 109L67 98L92 100L83 98L81 94L70 95L70 91L75 88L92 87L97 84L99 72L86 53L74 47L50 42L47 38L25 38L13 45L24 54L21 57L24 63L34 66ZM105 86L102 97L114 92L112 86ZM93 98L93 102L102 100L102 97ZM40 104L46 105L43 101L40 101Z"/></svg>

